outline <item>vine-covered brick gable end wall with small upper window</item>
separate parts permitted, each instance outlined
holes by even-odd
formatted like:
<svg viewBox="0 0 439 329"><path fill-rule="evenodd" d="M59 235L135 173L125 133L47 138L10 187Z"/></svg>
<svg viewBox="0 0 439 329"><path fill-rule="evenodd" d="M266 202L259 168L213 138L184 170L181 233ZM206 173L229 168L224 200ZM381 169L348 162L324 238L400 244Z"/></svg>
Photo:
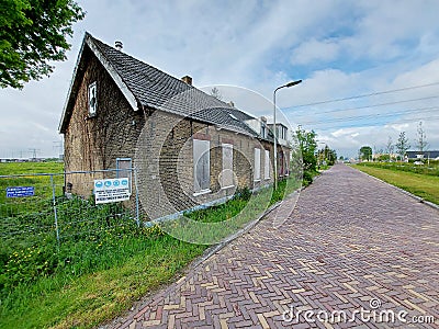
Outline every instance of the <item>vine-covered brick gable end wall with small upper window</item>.
<svg viewBox="0 0 439 329"><path fill-rule="evenodd" d="M144 126L142 111L133 111L110 75L86 47L81 83L65 134L65 170L92 171L115 169L116 158L132 157L137 137ZM97 115L89 116L88 87L97 81ZM114 174L108 174L114 178ZM71 174L72 192L89 196L93 179L104 174Z"/></svg>

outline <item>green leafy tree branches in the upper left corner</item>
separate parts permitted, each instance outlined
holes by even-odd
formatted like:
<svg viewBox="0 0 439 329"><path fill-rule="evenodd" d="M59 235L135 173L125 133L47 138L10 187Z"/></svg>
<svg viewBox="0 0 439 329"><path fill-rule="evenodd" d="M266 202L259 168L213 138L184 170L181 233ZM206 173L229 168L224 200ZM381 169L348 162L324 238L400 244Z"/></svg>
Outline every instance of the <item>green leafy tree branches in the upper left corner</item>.
<svg viewBox="0 0 439 329"><path fill-rule="evenodd" d="M1 0L0 87L23 88L48 76L54 60L65 60L71 25L83 19L72 0Z"/></svg>

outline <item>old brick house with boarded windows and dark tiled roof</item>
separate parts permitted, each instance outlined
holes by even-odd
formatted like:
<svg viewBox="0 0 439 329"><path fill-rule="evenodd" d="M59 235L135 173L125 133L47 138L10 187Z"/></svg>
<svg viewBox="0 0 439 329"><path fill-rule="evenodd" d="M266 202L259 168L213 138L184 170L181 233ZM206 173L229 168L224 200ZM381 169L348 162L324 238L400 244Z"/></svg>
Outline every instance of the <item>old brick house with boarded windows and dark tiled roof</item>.
<svg viewBox="0 0 439 329"><path fill-rule="evenodd" d="M284 135L279 136L286 136L285 129L280 125ZM66 172L135 167L142 206L151 219L273 180L273 138L263 117L202 92L188 76L173 78L88 33L59 132ZM285 140L279 139L278 152L278 172L288 175ZM92 180L102 177L66 175L65 183L87 197Z"/></svg>

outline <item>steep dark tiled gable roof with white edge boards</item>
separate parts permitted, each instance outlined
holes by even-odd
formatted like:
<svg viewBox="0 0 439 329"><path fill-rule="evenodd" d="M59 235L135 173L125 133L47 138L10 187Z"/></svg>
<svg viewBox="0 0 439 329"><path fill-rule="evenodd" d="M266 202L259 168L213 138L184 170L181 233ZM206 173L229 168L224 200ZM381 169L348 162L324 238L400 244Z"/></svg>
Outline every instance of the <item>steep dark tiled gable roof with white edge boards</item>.
<svg viewBox="0 0 439 329"><path fill-rule="evenodd" d="M255 117L102 43L89 33L86 33L75 68L59 124L60 133L65 133L75 105L76 94L80 86L78 67L82 60L85 47L88 47L103 65L134 111L144 107L161 110L237 133L258 136L244 123L244 121Z"/></svg>

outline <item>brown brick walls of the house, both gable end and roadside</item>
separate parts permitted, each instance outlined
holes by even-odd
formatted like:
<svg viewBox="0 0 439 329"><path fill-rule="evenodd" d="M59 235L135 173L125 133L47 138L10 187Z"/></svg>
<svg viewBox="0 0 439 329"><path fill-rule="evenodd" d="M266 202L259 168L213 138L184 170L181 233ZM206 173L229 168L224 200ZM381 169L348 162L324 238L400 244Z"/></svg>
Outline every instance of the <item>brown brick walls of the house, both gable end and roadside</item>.
<svg viewBox="0 0 439 329"><path fill-rule="evenodd" d="M85 58L89 59L83 64L86 69L65 134L66 171L114 169L116 158L132 158L138 168L140 202L150 218L234 194L235 189L221 189L218 181L224 143L234 146L233 170L237 186L252 189L272 182L272 144L161 111L135 112L98 59L94 56ZM97 115L90 117L88 86L93 81L98 88L98 110ZM192 136L209 139L211 144L211 192L201 195L194 195ZM255 147L261 149L261 180L258 182L254 182L252 172ZM270 179L264 178L264 149L270 150ZM72 183L74 193L89 196L92 180L102 177L104 174L69 175L67 182Z"/></svg>

